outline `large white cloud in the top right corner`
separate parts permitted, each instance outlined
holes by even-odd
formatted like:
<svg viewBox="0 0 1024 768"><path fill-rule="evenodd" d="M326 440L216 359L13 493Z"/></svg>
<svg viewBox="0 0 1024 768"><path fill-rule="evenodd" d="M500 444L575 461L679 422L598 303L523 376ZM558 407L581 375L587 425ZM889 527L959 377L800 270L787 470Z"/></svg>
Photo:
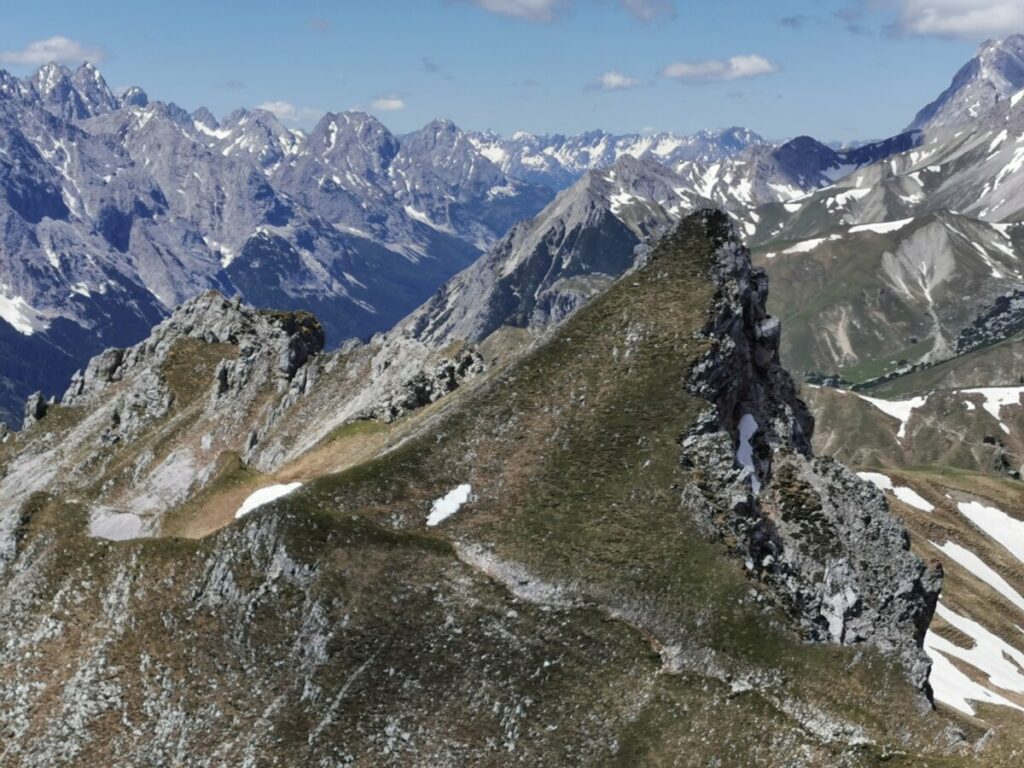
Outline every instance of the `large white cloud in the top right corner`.
<svg viewBox="0 0 1024 768"><path fill-rule="evenodd" d="M895 30L907 35L981 38L1024 32L1021 0L898 0Z"/></svg>

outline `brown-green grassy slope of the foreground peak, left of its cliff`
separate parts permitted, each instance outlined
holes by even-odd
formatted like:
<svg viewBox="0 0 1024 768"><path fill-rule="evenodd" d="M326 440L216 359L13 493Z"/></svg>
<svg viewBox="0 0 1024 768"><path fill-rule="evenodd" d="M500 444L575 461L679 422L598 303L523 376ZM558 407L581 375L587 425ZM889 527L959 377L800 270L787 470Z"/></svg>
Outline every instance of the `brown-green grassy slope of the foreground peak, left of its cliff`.
<svg viewBox="0 0 1024 768"><path fill-rule="evenodd" d="M678 441L708 406L686 379L718 245L685 223L520 360L384 427L390 451L206 538L90 539L83 506L34 496L0 586L0 761L974 764L982 727L872 645L805 642L681 497L710 470ZM1015 744L1000 728L987 764Z"/></svg>

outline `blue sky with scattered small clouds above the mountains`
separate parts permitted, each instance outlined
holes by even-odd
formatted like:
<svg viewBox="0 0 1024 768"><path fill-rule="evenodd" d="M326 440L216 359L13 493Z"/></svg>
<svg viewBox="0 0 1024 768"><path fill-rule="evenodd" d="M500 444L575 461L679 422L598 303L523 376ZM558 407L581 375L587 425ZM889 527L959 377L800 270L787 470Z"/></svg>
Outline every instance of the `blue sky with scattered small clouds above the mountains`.
<svg viewBox="0 0 1024 768"><path fill-rule="evenodd" d="M101 59L110 84L293 125L364 109L511 133L743 125L774 138L890 135L1020 0L67 2L5 8L0 66ZM1020 29L1018 29L1020 28ZM52 38L60 38L52 41ZM44 43L42 41L51 41ZM33 47L35 44L35 47Z"/></svg>

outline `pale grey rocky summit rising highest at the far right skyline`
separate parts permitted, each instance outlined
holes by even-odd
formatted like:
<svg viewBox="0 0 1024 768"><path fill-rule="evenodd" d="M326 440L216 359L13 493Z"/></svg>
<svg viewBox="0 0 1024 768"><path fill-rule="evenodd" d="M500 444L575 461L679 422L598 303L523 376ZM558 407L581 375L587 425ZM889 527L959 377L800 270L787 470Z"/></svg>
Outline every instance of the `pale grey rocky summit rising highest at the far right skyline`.
<svg viewBox="0 0 1024 768"><path fill-rule="evenodd" d="M964 125L1024 88L1024 35L989 40L939 97L918 113L909 129Z"/></svg>

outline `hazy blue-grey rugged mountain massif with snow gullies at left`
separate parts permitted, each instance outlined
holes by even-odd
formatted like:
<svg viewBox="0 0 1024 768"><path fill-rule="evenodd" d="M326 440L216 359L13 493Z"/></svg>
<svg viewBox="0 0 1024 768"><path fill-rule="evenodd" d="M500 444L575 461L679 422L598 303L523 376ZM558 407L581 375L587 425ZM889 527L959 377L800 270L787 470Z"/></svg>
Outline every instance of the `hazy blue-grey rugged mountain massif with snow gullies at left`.
<svg viewBox="0 0 1024 768"><path fill-rule="evenodd" d="M218 122L137 88L118 99L90 65L4 73L0 94L0 291L19 307L0 318L18 361L0 373L8 421L210 289L314 311L334 344L384 331L550 199L493 167L470 179L469 155L434 172L415 141L407 182L399 139L367 115L308 136L260 110Z"/></svg>

